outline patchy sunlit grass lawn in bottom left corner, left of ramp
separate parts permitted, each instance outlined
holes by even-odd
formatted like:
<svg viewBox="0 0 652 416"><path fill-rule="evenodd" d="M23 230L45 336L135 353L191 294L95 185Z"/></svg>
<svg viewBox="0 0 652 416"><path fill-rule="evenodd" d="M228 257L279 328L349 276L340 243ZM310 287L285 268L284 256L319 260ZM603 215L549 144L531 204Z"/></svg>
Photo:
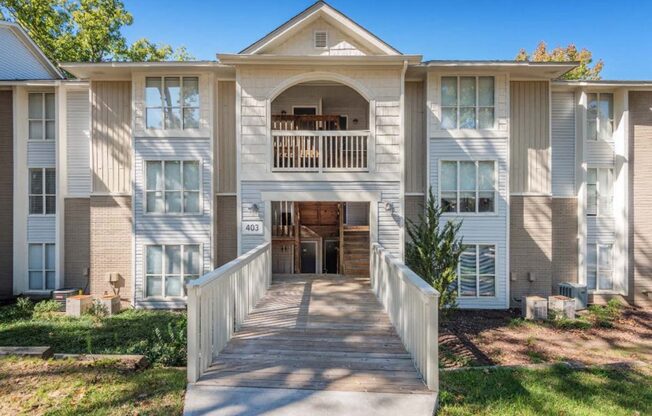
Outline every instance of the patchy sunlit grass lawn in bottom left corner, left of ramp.
<svg viewBox="0 0 652 416"><path fill-rule="evenodd" d="M0 358L3 415L180 415L184 368Z"/></svg>

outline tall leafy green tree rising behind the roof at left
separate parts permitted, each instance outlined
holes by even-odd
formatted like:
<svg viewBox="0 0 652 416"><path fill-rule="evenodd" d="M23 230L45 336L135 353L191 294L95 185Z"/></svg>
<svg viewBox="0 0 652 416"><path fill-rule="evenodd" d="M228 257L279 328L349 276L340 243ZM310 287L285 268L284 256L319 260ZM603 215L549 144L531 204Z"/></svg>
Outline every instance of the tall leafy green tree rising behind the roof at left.
<svg viewBox="0 0 652 416"><path fill-rule="evenodd" d="M122 28L133 16L120 0L0 0L0 18L19 23L55 62L192 59L147 39L128 45Z"/></svg>

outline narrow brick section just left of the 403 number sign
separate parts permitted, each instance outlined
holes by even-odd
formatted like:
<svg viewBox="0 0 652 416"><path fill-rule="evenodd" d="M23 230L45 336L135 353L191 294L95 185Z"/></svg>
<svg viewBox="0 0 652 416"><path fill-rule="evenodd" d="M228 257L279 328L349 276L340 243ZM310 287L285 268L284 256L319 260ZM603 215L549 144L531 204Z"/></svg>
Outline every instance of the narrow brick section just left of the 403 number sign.
<svg viewBox="0 0 652 416"><path fill-rule="evenodd" d="M215 265L238 257L238 219L235 196L215 197Z"/></svg>

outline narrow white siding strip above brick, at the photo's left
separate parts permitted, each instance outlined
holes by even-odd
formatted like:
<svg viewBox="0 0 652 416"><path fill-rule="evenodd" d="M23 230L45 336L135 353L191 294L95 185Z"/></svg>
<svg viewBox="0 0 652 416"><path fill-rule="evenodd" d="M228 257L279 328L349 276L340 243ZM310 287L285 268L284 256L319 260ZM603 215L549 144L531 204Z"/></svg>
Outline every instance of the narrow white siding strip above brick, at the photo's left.
<svg viewBox="0 0 652 416"><path fill-rule="evenodd" d="M88 196L91 192L88 91L69 91L66 105L68 195Z"/></svg>

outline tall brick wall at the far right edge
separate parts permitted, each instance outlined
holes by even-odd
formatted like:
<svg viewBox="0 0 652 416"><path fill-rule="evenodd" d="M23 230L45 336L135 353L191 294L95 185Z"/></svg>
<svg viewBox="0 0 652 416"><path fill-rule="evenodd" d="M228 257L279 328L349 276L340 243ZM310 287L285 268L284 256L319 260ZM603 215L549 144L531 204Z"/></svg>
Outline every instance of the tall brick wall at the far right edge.
<svg viewBox="0 0 652 416"><path fill-rule="evenodd" d="M652 307L652 92L631 92L629 301Z"/></svg>

